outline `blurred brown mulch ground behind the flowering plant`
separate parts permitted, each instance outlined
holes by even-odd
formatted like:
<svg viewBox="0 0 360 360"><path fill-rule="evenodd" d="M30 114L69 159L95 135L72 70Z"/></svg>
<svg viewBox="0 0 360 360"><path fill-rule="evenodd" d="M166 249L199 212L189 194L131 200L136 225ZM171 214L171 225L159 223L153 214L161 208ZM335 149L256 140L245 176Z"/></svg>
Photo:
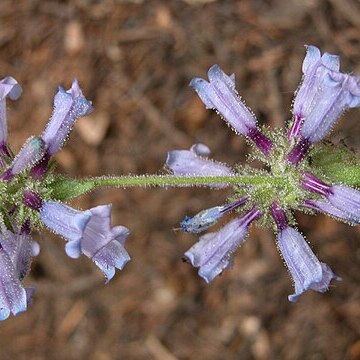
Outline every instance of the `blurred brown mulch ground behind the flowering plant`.
<svg viewBox="0 0 360 360"><path fill-rule="evenodd" d="M95 113L58 154L71 176L162 171L166 152L195 142L216 159L243 161L244 139L205 110L188 82L218 63L259 122L290 117L304 44L341 55L360 74L357 0L23 0L0 2L0 72L24 88L9 104L17 150L40 134L58 84L74 77ZM333 133L360 148L360 110ZM291 304L291 280L274 236L252 229L231 271L207 286L183 252L195 236L173 231L184 215L223 203L226 191L101 190L74 205L113 203L132 230L132 261L108 284L87 258L69 259L44 233L28 284L34 304L0 324L0 359L360 359L359 230L298 217L319 258L343 278Z"/></svg>

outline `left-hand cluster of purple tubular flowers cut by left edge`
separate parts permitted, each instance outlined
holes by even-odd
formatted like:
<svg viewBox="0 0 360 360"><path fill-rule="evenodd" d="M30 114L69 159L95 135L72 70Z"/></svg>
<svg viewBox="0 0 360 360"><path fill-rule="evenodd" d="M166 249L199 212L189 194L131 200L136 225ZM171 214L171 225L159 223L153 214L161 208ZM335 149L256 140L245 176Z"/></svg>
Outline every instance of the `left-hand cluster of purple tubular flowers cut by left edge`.
<svg viewBox="0 0 360 360"><path fill-rule="evenodd" d="M52 172L52 157L75 121L92 112L91 102L76 80L69 90L60 87L45 131L29 138L14 157L7 142L6 98L15 100L21 92L15 79L0 81L0 320L10 312L25 311L31 301L34 289L25 288L22 280L40 251L31 239L33 230L45 225L61 235L68 256L86 255L107 280L130 260L124 247L129 231L111 227L111 205L80 211L59 201L53 191L58 178Z"/></svg>

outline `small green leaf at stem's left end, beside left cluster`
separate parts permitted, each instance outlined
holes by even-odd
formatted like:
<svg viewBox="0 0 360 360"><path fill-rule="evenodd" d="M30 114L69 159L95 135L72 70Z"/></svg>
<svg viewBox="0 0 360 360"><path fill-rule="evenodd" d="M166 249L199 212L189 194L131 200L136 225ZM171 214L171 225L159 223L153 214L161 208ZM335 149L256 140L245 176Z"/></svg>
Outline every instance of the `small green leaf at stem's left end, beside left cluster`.
<svg viewBox="0 0 360 360"><path fill-rule="evenodd" d="M64 201L88 193L96 188L96 184L92 179L77 180L59 176L49 187L52 190L51 198L53 200Z"/></svg>

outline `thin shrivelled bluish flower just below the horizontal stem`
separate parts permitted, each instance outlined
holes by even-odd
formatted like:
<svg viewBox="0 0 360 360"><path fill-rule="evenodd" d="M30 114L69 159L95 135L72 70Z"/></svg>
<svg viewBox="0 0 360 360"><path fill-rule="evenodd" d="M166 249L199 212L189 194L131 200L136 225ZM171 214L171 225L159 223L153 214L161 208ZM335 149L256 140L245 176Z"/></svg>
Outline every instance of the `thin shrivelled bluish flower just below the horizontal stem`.
<svg viewBox="0 0 360 360"><path fill-rule="evenodd" d="M223 206L215 206L210 209L200 211L194 217L190 218L185 216L184 220L180 223L181 228L185 232L200 233L207 230L209 227L215 225L228 212L243 206L248 196L244 196L237 201Z"/></svg>

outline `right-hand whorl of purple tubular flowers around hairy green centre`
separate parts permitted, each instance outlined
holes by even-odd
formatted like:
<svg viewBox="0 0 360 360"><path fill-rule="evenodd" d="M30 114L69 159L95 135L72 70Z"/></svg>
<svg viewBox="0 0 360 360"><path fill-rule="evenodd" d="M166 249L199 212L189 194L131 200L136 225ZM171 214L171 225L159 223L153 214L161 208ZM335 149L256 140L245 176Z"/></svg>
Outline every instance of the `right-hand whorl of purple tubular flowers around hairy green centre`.
<svg viewBox="0 0 360 360"><path fill-rule="evenodd" d="M190 82L208 109L215 109L236 133L256 145L254 158L267 170L234 169L208 158L209 149L202 144L190 150L168 153L167 166L174 175L267 176L267 184L235 186L229 203L186 217L184 231L200 233L214 225L230 211L244 209L219 231L200 236L186 253L199 275L211 282L231 263L232 254L245 241L254 221L277 231L277 244L295 284L296 301L304 291L324 292L336 276L320 262L295 227L293 210L319 211L350 224L360 222L360 192L343 184L333 184L311 165L314 144L323 140L336 120L347 109L360 106L360 78L339 71L339 57L308 46L303 62L303 78L295 94L293 120L289 129L270 132L260 129L253 113L235 90L234 75L226 75L218 65L208 72L209 81L194 78ZM222 187L226 184L213 184Z"/></svg>

